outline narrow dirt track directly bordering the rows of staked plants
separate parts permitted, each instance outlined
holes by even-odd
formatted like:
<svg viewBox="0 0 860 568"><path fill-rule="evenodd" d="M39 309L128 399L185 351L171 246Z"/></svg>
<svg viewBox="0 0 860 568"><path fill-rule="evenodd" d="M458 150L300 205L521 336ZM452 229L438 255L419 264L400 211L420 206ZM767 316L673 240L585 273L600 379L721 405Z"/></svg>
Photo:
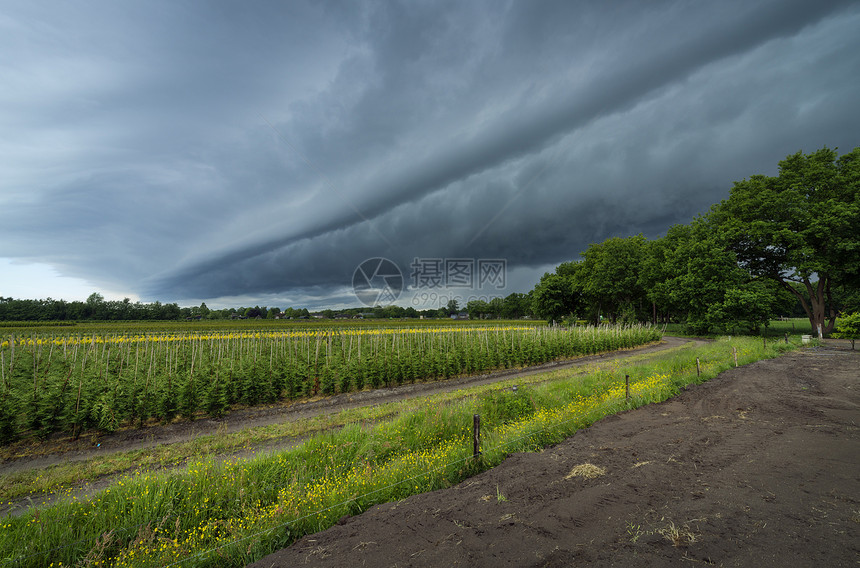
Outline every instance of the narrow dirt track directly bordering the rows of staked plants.
<svg viewBox="0 0 860 568"><path fill-rule="evenodd" d="M311 418L323 414L334 414L346 409L395 402L416 396L450 392L516 377L531 376L550 370L592 365L601 361L629 357L630 355L666 350L691 341L697 344L704 343L701 340L666 336L659 344L581 357L571 361L546 363L526 369L511 369L447 381L434 381L373 391L348 393L298 403L258 406L230 412L217 420L205 418L193 422L180 421L174 424L156 425L140 429L130 428L110 435L85 435L78 440L57 439L50 444L19 448L19 456L0 460L0 474L45 468L59 463L84 461L117 452L149 448L162 444L186 442L215 433L231 433L248 428ZM288 444L289 441L280 440L276 442L276 445L282 447L285 443Z"/></svg>

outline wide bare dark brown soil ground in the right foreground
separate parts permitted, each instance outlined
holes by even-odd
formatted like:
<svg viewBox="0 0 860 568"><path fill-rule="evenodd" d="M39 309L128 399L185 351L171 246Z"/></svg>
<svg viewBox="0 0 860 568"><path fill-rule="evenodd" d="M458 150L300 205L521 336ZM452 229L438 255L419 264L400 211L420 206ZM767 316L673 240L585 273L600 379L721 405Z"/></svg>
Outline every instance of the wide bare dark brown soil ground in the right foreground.
<svg viewBox="0 0 860 568"><path fill-rule="evenodd" d="M860 352L797 351L252 566L856 567L858 426Z"/></svg>

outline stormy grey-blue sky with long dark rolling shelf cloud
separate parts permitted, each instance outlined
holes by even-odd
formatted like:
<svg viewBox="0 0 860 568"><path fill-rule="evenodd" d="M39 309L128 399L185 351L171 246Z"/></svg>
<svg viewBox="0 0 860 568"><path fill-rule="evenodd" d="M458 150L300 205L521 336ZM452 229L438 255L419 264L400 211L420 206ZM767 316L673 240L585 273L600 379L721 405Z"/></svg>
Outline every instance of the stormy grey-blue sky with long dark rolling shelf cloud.
<svg viewBox="0 0 860 568"><path fill-rule="evenodd" d="M830 0L0 1L0 296L527 292L860 145L857 30Z"/></svg>

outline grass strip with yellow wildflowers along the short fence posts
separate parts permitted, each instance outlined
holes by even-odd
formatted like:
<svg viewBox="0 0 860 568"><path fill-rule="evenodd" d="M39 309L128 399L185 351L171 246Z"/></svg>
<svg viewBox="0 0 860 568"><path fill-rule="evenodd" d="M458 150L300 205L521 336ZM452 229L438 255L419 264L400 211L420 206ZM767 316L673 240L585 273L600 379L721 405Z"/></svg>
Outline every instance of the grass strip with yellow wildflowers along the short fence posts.
<svg viewBox="0 0 860 568"><path fill-rule="evenodd" d="M722 339L587 375L557 371L553 380L516 381L516 392L493 385L410 401L413 411L346 423L283 452L126 476L90 499L0 521L0 557L15 566L242 566L343 515L453 485L511 452L538 450L603 416L665 400L733 366L732 347L745 364L792 347L783 345ZM474 414L482 417L480 459L471 455Z"/></svg>

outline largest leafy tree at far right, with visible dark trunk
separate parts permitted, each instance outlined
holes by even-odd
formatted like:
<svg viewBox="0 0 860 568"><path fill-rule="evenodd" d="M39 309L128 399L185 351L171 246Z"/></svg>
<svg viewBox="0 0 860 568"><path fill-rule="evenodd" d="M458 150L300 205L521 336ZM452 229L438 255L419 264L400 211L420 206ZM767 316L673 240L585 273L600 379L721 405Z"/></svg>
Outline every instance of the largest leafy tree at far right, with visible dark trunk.
<svg viewBox="0 0 860 568"><path fill-rule="evenodd" d="M740 267L794 294L819 334L833 330L834 288L860 285L860 147L788 156L776 177L736 182L709 218Z"/></svg>

